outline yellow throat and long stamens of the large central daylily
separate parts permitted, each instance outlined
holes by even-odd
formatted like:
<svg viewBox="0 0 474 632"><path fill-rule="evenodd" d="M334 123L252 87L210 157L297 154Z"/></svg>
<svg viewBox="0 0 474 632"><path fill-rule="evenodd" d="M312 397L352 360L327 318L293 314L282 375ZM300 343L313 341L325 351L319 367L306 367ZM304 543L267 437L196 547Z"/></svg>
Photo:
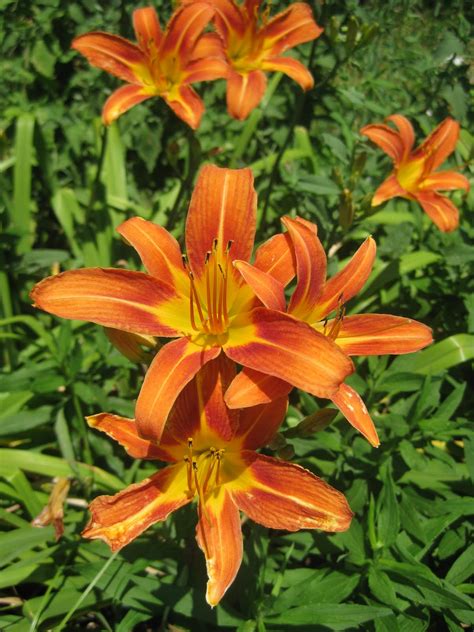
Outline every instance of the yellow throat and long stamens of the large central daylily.
<svg viewBox="0 0 474 632"><path fill-rule="evenodd" d="M212 250L206 253L204 264L204 279L196 283L192 270L188 268L186 258L183 264L189 276L189 316L191 326L196 332L207 335L220 335L229 326L229 311L227 305L229 241L223 256L221 256L217 239L214 239Z"/></svg>

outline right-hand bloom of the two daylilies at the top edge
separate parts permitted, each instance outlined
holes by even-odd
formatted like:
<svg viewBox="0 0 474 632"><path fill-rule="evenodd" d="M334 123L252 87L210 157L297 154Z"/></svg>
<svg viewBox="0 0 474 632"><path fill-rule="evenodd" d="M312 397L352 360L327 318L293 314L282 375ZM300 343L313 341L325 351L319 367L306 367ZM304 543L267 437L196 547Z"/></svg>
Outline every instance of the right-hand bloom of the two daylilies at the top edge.
<svg viewBox="0 0 474 632"><path fill-rule="evenodd" d="M298 60L283 53L321 35L323 29L314 21L311 8L294 2L288 9L268 17L268 10L259 12L261 0L208 0L216 12L213 19L222 37L229 64L227 77L227 109L243 120L257 107L265 93L266 71L283 72L303 90L310 90L313 77Z"/></svg>

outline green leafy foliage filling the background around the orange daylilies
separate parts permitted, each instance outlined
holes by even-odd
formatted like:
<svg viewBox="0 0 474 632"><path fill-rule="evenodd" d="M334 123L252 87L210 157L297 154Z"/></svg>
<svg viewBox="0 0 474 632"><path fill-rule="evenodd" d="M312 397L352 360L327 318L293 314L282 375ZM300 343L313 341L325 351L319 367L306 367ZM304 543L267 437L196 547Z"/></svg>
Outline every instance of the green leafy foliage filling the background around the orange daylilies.
<svg viewBox="0 0 474 632"><path fill-rule="evenodd" d="M75 35L133 39L132 2L0 0L0 628L461 630L474 623L469 579L474 503L474 193L452 194L461 226L445 235L415 204L371 209L391 169L360 127L395 112L418 139L446 116L464 128L450 159L472 178L474 48L470 3L312 2L324 34L297 54L316 87L272 75L246 122L225 110L224 82L201 85L207 111L190 132L158 99L105 130L119 81L70 50ZM286 3L273 2L273 10ZM169 2L154 2L162 22ZM222 604L204 601L190 510L118 555L82 541L87 501L141 480L133 461L86 428L84 415L133 415L143 367L96 326L30 307L34 282L83 265L135 267L114 228L157 221L179 237L199 166L251 166L257 240L298 213L317 222L335 272L373 234L374 272L349 311L411 316L436 343L412 356L357 362L382 445L372 449L327 402L292 395L270 448L344 491L344 534L269 532L246 522L245 560ZM323 412L321 412L323 411ZM302 424L302 425L300 425ZM65 535L31 521L55 477L70 477Z"/></svg>

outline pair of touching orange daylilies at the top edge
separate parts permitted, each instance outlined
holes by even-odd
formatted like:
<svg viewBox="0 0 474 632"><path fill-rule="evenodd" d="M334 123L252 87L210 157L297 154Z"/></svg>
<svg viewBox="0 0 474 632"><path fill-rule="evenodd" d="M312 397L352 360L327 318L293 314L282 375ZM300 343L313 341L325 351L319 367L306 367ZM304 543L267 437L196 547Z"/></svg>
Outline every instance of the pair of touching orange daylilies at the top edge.
<svg viewBox="0 0 474 632"><path fill-rule="evenodd" d="M116 90L102 111L112 123L137 103L159 96L193 129L199 127L204 104L191 84L227 80L229 114L245 119L260 103L265 72L280 71L303 90L313 86L311 73L282 54L317 38L322 29L307 4L297 2L272 19L260 11L261 0L182 0L163 32L156 11L133 13L137 44L109 33L77 37L72 47L93 66L126 85ZM204 33L212 22L214 33Z"/></svg>

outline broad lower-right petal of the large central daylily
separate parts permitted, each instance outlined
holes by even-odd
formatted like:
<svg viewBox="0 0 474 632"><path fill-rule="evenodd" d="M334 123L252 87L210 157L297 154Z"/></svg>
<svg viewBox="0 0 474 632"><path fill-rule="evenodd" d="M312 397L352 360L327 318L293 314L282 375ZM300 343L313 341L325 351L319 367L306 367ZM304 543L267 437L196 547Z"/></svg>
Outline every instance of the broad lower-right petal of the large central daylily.
<svg viewBox="0 0 474 632"><path fill-rule="evenodd" d="M225 353L318 397L330 397L353 371L352 362L325 336L287 314L257 308L234 320Z"/></svg>

